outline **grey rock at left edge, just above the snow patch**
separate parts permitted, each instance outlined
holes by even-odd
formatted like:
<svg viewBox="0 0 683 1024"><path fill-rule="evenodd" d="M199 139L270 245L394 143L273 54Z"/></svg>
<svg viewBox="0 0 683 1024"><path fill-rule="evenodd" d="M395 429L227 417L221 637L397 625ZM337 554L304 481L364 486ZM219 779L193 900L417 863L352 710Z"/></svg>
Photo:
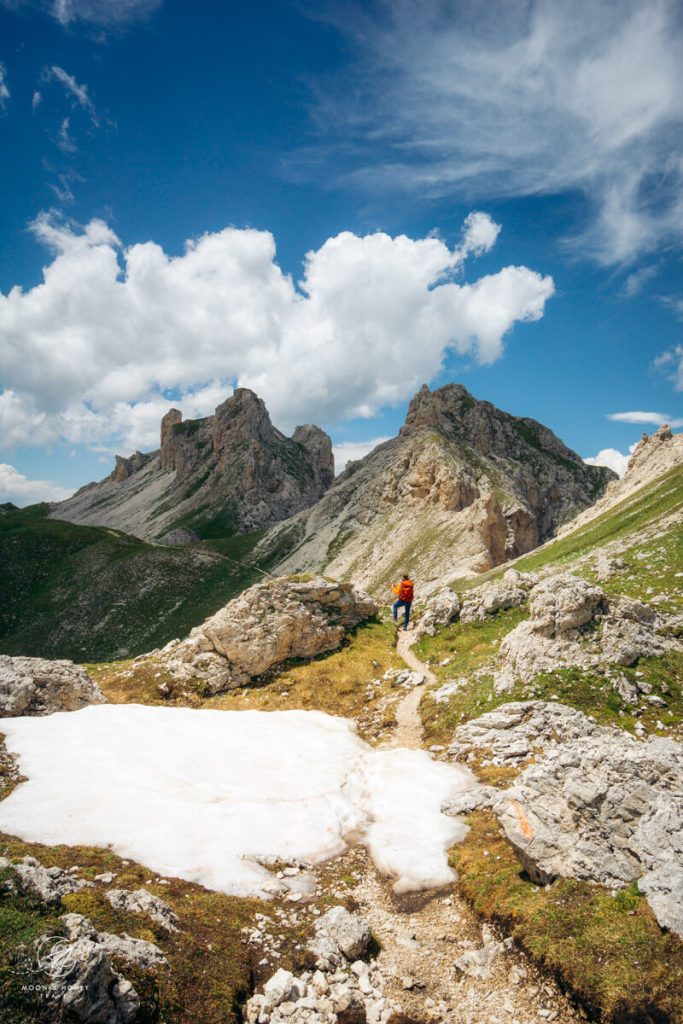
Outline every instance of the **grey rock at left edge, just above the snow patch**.
<svg viewBox="0 0 683 1024"><path fill-rule="evenodd" d="M104 703L104 695L73 662L0 654L1 715L52 715L91 703Z"/></svg>

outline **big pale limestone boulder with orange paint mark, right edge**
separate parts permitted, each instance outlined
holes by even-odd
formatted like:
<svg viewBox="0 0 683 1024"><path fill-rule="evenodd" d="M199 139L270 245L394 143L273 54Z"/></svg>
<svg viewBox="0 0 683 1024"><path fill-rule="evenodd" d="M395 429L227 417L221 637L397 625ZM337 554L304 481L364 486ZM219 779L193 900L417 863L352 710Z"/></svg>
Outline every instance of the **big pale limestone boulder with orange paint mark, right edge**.
<svg viewBox="0 0 683 1024"><path fill-rule="evenodd" d="M683 745L621 730L550 748L496 813L530 877L638 881L663 927L683 935Z"/></svg>

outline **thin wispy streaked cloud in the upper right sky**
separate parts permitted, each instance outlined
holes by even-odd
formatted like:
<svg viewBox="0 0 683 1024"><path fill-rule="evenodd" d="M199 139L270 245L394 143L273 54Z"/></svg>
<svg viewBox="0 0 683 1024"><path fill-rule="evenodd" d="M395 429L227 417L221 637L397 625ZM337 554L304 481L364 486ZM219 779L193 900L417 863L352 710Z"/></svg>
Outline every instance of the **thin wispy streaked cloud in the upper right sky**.
<svg viewBox="0 0 683 1024"><path fill-rule="evenodd" d="M492 0L485 11L379 0L310 13L357 54L345 87L318 87L317 126L346 183L582 196L590 216L574 243L604 264L683 242L677 0Z"/></svg>

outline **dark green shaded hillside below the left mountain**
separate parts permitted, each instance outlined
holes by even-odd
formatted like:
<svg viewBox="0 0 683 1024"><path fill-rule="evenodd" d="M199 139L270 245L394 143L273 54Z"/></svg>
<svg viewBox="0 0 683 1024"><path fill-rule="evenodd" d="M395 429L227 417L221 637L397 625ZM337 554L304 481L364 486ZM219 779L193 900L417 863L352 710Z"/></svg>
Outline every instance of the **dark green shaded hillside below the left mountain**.
<svg viewBox="0 0 683 1024"><path fill-rule="evenodd" d="M0 653L134 656L185 635L260 579L242 564L260 532L166 548L47 511L0 517Z"/></svg>

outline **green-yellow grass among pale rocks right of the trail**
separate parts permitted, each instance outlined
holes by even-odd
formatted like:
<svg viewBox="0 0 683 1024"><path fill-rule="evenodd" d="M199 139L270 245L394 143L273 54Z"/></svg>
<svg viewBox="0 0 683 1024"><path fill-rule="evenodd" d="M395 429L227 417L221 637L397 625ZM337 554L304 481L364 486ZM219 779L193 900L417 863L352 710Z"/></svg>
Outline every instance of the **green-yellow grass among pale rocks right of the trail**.
<svg viewBox="0 0 683 1024"><path fill-rule="evenodd" d="M664 610L680 611L683 531L680 525L667 528L657 523L682 506L683 471L677 469L574 534L519 559L516 567L529 571L552 567L594 579L585 556L616 541L625 566L600 586L612 595L628 594ZM484 582L504 571L487 573ZM465 581L462 589L481 582ZM432 663L438 685L461 681L447 700L437 702L429 693L423 697L427 744L447 743L462 722L503 702L529 698L559 699L599 722L633 729L634 709L600 673L567 669L518 683L510 693L495 692L493 672L500 643L527 614L521 607L482 623L456 623L421 642L419 653ZM445 658L449 664L440 665ZM681 738L683 655L669 652L641 658L617 671L630 679L638 673L654 693L666 696L666 710L638 714L646 732ZM502 786L516 774L510 768L482 767L477 761L471 767L484 781ZM683 942L661 931L635 887L612 896L600 886L565 879L540 889L520 871L492 815L474 814L469 823L467 839L453 848L451 858L463 893L484 919L502 923L594 1018L620 1024L683 1021Z"/></svg>

